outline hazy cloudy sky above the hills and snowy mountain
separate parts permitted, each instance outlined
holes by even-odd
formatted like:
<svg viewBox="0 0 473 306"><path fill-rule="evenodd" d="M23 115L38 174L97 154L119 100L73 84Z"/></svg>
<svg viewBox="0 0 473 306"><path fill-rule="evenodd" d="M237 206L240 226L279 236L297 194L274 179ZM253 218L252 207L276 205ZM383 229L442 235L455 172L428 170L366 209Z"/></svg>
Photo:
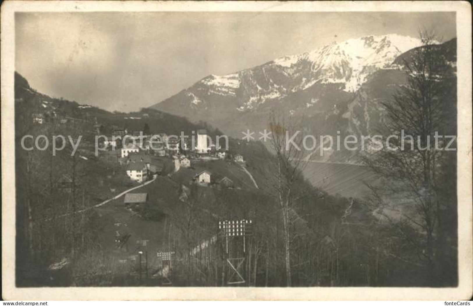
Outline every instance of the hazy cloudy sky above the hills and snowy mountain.
<svg viewBox="0 0 473 306"><path fill-rule="evenodd" d="M366 35L456 36L455 13L17 13L16 70L53 97L106 110L160 102L225 75Z"/></svg>

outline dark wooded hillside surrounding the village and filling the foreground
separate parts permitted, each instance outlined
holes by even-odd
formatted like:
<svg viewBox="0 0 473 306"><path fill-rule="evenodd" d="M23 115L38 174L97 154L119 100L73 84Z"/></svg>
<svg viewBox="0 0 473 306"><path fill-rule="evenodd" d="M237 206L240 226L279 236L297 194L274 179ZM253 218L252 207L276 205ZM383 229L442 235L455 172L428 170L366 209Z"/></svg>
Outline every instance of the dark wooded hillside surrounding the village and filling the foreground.
<svg viewBox="0 0 473 306"><path fill-rule="evenodd" d="M208 128L156 110L110 113L95 107L37 93L16 74L17 285L134 286L138 278L135 241L147 245L147 285L162 285L163 271L155 256L174 250L172 281L176 286L224 285L224 239L219 221L251 220L245 261L246 285L285 286L284 218L289 221L292 286L424 286L430 285L416 249L399 233L400 224L379 218L375 208L357 198L330 195L297 171L291 205L281 214L277 193L278 160L259 142L230 138L232 159L196 161L189 169L157 176L140 187L147 206L126 209L123 196L93 207L120 191L137 187L116 160L94 156L96 128L111 126L154 133ZM37 114L44 122L34 122ZM146 115L145 115L146 114ZM67 123L61 123L67 119ZM53 156L21 148L24 135L84 136L85 146L71 156ZM87 144L88 143L88 144ZM30 143L27 143L31 145ZM67 146L66 146L67 148ZM108 156L108 155L107 155ZM290 168L290 166L289 166ZM232 188L217 184L189 185L205 169L228 177ZM249 173L249 174L248 174ZM254 182L253 180L254 179ZM130 246L117 244L125 231ZM134 258L134 259L133 259ZM140 259L141 260L141 259ZM45 277L46 275L46 277ZM455 275L441 282L455 285Z"/></svg>

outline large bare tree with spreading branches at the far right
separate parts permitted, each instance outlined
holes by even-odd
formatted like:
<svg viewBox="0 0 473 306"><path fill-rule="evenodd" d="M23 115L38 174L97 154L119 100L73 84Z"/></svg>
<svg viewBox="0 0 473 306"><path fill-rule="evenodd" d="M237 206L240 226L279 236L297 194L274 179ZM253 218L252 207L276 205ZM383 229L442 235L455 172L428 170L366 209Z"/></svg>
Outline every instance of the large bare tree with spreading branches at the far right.
<svg viewBox="0 0 473 306"><path fill-rule="evenodd" d="M365 161L384 179L384 184L371 186L377 203L397 201L380 206L377 212L386 220L409 224L415 237L402 226L398 229L412 243L433 277L435 261L435 231L441 223L439 211L439 164L446 162L448 152L438 150L435 137L442 135L447 122L447 93L452 86L451 67L438 45L438 37L430 31L420 31L422 45L404 56L407 83L399 87L391 100L384 102L385 134L404 131L386 148L369 154ZM444 134L445 135L445 134ZM412 137L411 137L412 136ZM395 199L397 197L397 199ZM390 207L387 207L390 206ZM386 209L391 212L386 213ZM401 224L399 223L399 224Z"/></svg>

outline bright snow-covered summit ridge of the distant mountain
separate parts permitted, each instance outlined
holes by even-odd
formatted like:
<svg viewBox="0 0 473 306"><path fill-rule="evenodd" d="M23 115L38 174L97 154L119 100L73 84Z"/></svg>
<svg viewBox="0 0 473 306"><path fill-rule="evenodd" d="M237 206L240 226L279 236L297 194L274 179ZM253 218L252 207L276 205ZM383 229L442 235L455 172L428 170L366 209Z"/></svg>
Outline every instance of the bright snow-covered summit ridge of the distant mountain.
<svg viewBox="0 0 473 306"><path fill-rule="evenodd" d="M369 35L343 42L334 41L302 54L283 56L261 67L263 70L271 66L279 67L289 77L304 75L298 84L286 88L287 92L304 90L317 82L341 83L345 91L353 92L366 82L369 74L389 67L396 57L420 44L420 39L399 34ZM225 76L206 76L198 84L210 86L214 93L235 95L242 83L241 75L249 71L251 74L254 69ZM284 94L279 90L277 92Z"/></svg>

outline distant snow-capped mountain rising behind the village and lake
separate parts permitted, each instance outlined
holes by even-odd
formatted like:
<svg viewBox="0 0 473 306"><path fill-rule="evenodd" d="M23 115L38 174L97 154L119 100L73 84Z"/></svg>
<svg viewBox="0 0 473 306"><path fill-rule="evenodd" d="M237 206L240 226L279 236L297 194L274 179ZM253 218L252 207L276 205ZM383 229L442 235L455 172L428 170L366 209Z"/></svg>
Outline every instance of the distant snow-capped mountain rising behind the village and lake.
<svg viewBox="0 0 473 306"><path fill-rule="evenodd" d="M314 135L368 135L383 120L381 101L405 82L403 57L420 40L388 34L333 42L226 76L207 76L153 107L206 121L230 136L267 128L278 109ZM439 45L454 49L456 40ZM452 52L450 52L452 53ZM456 61L452 53L452 62Z"/></svg>

